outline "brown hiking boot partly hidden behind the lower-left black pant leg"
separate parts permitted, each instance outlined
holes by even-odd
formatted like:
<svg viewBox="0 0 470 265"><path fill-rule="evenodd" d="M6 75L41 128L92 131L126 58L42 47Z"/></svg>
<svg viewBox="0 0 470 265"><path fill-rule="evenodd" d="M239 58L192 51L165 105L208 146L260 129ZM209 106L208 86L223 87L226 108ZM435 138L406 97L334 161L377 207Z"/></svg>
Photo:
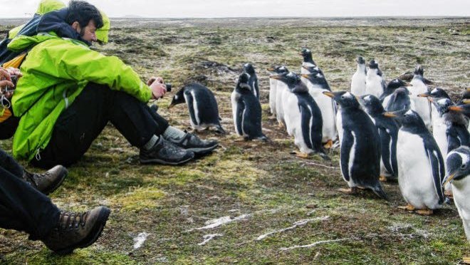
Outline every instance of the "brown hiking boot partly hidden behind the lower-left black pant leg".
<svg viewBox="0 0 470 265"><path fill-rule="evenodd" d="M49 194L61 186L68 171L61 165L56 165L44 173L30 173L23 170L23 180L43 194Z"/></svg>

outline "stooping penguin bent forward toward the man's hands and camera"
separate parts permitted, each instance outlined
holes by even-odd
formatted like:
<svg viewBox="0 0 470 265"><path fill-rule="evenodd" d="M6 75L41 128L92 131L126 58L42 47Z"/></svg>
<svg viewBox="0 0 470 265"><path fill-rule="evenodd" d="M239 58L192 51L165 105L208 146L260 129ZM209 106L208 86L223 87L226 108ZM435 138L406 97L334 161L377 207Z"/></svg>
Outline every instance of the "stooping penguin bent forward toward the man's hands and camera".
<svg viewBox="0 0 470 265"><path fill-rule="evenodd" d="M204 130L215 127L217 133L225 133L220 124L219 108L217 101L209 88L199 83L184 85L174 94L168 108L180 103L187 103L189 120L194 130Z"/></svg>

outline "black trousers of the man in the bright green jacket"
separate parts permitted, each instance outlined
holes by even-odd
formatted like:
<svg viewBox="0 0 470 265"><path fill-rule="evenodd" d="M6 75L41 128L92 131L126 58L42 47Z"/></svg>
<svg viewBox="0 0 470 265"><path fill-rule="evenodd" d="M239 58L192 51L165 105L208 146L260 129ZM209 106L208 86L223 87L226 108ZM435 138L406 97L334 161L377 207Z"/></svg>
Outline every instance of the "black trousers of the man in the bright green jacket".
<svg viewBox="0 0 470 265"><path fill-rule="evenodd" d="M108 121L136 147L168 128L166 120L132 95L88 83L59 115L48 146L31 163L43 168L73 164L85 154Z"/></svg>

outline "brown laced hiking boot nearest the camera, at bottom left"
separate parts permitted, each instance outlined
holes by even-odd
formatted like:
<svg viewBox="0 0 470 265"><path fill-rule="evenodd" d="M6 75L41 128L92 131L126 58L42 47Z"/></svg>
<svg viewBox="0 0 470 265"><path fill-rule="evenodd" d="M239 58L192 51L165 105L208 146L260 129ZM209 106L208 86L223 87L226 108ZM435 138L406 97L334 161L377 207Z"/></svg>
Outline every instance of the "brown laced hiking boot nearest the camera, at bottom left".
<svg viewBox="0 0 470 265"><path fill-rule="evenodd" d="M57 254L72 253L95 243L110 215L107 207L96 207L88 212L61 212L57 227L41 241Z"/></svg>

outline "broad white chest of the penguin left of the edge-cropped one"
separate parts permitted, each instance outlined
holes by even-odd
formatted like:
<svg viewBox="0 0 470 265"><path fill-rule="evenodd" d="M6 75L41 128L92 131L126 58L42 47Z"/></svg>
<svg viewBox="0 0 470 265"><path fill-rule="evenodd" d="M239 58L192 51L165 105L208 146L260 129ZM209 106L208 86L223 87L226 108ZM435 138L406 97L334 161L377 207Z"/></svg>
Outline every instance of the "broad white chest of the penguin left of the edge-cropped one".
<svg viewBox="0 0 470 265"><path fill-rule="evenodd" d="M432 167L421 137L399 130L397 142L398 185L404 200L417 209L436 209L439 197Z"/></svg>

